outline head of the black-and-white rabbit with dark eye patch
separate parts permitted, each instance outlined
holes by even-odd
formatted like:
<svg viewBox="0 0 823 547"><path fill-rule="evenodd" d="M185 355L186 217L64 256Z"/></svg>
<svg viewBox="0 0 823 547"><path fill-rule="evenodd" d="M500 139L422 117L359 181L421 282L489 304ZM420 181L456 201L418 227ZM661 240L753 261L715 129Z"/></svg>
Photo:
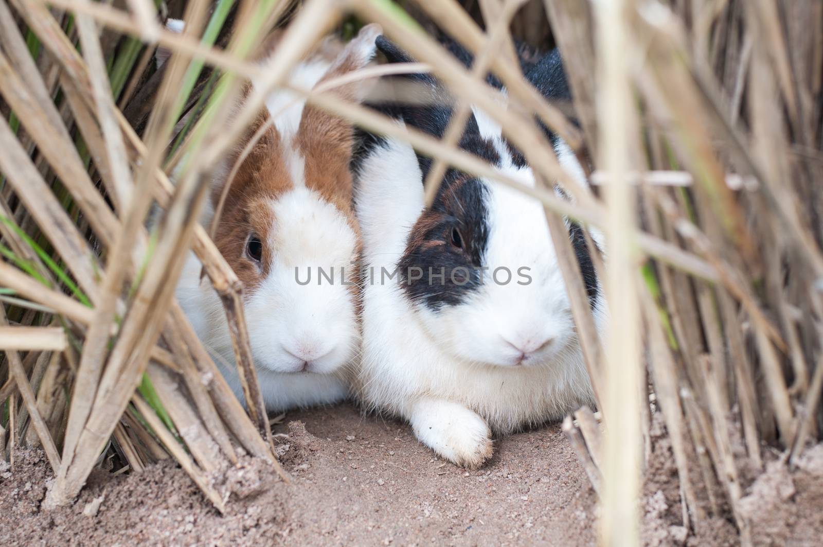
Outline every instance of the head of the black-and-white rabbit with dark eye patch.
<svg viewBox="0 0 823 547"><path fill-rule="evenodd" d="M389 62L411 58L383 37L377 41ZM528 72L541 89L547 71L562 71L560 58L549 54ZM393 104L391 112L406 126L442 138L452 117L443 86L428 74L404 78L425 104ZM542 90L551 95L556 89ZM567 89L560 90L565 93ZM584 175L568 147L552 137L561 161ZM380 145L380 144L378 144ZM409 182L398 203L422 203L432 160L410 157L408 147L384 141L381 163L407 166ZM468 119L459 146L488 161L501 173L528 187L535 185L523 155L503 137L500 126L480 110ZM390 156L395 156L391 157ZM416 160L416 161L415 161ZM404 163L405 162L405 163ZM360 177L379 176L374 161ZM362 217L370 217L366 213ZM467 362L500 367L538 367L578 351L569 297L560 274L542 204L527 194L491 180L449 168L430 208L421 208L409 231L398 265L398 287L413 314L446 353ZM567 222L584 273L592 306L600 293L582 230ZM371 236L368 236L371 237Z"/></svg>

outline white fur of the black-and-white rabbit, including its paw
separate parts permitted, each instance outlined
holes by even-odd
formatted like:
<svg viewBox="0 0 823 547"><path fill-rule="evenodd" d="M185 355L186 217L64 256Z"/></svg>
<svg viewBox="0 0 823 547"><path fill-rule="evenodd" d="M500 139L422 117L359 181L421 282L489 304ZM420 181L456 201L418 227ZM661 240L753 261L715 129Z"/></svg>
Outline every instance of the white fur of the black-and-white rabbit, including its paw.
<svg viewBox="0 0 823 547"><path fill-rule="evenodd" d="M481 134L496 131L495 147L505 152L499 126L476 115ZM534 185L530 169L501 156L506 175ZM390 141L373 152L359 173L356 199L365 266L376 269L364 289L358 395L407 418L421 442L470 467L491 455L490 427L512 432L593 401L542 205L485 183L491 229L483 265L490 273L507 267L515 278L528 267L532 283L487 282L467 302L439 312L412 306L397 278L380 283L380 268L393 270L423 209L412 147ZM597 325L606 315L598 297ZM522 353L528 356L518 365Z"/></svg>

